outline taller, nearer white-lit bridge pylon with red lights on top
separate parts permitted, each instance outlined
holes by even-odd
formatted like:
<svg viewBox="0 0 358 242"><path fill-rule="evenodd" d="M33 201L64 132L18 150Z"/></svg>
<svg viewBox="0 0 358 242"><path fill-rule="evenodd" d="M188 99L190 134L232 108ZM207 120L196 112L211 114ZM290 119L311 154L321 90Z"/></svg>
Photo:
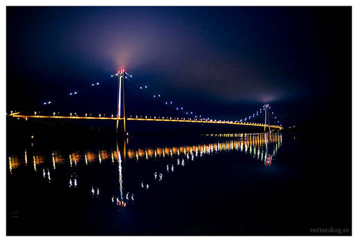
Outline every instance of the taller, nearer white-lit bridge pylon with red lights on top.
<svg viewBox="0 0 358 242"><path fill-rule="evenodd" d="M127 135L127 116L125 115L125 70L118 72L118 89L117 89L117 124L116 124L116 132L120 133L119 122L120 122L120 109L123 110L123 133Z"/></svg>

